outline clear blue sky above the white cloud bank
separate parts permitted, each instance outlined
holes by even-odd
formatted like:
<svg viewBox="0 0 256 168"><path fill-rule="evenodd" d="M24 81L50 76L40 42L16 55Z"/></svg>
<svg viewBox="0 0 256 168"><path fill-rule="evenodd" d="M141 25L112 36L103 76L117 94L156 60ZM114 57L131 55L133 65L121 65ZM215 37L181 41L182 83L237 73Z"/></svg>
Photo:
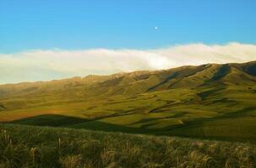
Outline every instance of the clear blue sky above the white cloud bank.
<svg viewBox="0 0 256 168"><path fill-rule="evenodd" d="M0 0L0 51L255 44L255 8L254 0Z"/></svg>

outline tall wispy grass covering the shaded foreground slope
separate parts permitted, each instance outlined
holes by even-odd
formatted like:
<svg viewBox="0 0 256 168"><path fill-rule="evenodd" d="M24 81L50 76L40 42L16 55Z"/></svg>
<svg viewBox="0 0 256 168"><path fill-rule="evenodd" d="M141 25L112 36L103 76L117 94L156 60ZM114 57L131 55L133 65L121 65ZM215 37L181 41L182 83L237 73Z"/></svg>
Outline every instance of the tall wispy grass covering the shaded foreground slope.
<svg viewBox="0 0 256 168"><path fill-rule="evenodd" d="M0 124L0 167L255 167L256 146Z"/></svg>

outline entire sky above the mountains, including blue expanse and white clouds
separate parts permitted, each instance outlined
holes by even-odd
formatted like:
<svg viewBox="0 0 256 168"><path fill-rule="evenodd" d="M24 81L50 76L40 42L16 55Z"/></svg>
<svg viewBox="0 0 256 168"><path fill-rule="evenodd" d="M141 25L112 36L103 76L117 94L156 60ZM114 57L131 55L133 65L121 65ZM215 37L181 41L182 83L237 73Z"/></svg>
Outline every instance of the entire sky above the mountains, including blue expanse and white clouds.
<svg viewBox="0 0 256 168"><path fill-rule="evenodd" d="M254 0L0 0L0 83L256 60L255 8Z"/></svg>

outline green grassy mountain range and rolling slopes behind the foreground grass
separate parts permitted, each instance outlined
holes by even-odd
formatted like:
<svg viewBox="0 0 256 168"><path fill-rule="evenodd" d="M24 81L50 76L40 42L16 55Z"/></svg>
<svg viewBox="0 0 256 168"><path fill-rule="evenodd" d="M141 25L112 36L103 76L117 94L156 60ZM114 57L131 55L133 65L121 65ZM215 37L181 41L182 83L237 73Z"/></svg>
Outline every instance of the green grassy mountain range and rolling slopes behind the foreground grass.
<svg viewBox="0 0 256 168"><path fill-rule="evenodd" d="M256 61L1 85L0 121L256 139Z"/></svg>

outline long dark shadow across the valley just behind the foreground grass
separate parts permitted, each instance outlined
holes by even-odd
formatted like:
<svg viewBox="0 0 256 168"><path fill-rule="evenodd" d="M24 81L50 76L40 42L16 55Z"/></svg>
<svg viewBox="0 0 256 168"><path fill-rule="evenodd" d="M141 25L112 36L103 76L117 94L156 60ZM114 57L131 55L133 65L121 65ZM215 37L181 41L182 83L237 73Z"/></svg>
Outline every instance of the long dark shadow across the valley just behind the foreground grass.
<svg viewBox="0 0 256 168"><path fill-rule="evenodd" d="M220 124L220 127L212 127L208 123L218 122L222 119L237 119L251 117L250 112L255 110L256 107L243 108L233 113L224 113L221 116L214 118L198 118L195 120L184 122L182 125L169 126L161 129L147 129L144 126L140 128L128 127L126 125L117 125L112 123L105 123L97 119L85 119L76 118L63 115L40 115L31 118L23 118L15 120L10 123L24 124L24 125L35 125L35 126L52 126L52 127L63 127L72 129L89 129L106 132L123 132L130 134L154 134L154 135L172 135L187 138L196 139L221 139L228 141L242 141L242 142L255 142L256 136L253 134L254 131L246 132L246 128L241 128L239 123L232 123L229 131L220 130L221 126L226 124ZM254 116L252 116L254 118ZM141 120L140 122L146 122L149 120ZM246 121L246 120L245 120ZM235 125L234 125L235 124ZM253 125L253 123L252 123ZM149 125L146 125L149 126ZM204 129L208 132L205 132ZM226 131L227 136L221 134L220 131ZM230 136L228 136L230 135Z"/></svg>

